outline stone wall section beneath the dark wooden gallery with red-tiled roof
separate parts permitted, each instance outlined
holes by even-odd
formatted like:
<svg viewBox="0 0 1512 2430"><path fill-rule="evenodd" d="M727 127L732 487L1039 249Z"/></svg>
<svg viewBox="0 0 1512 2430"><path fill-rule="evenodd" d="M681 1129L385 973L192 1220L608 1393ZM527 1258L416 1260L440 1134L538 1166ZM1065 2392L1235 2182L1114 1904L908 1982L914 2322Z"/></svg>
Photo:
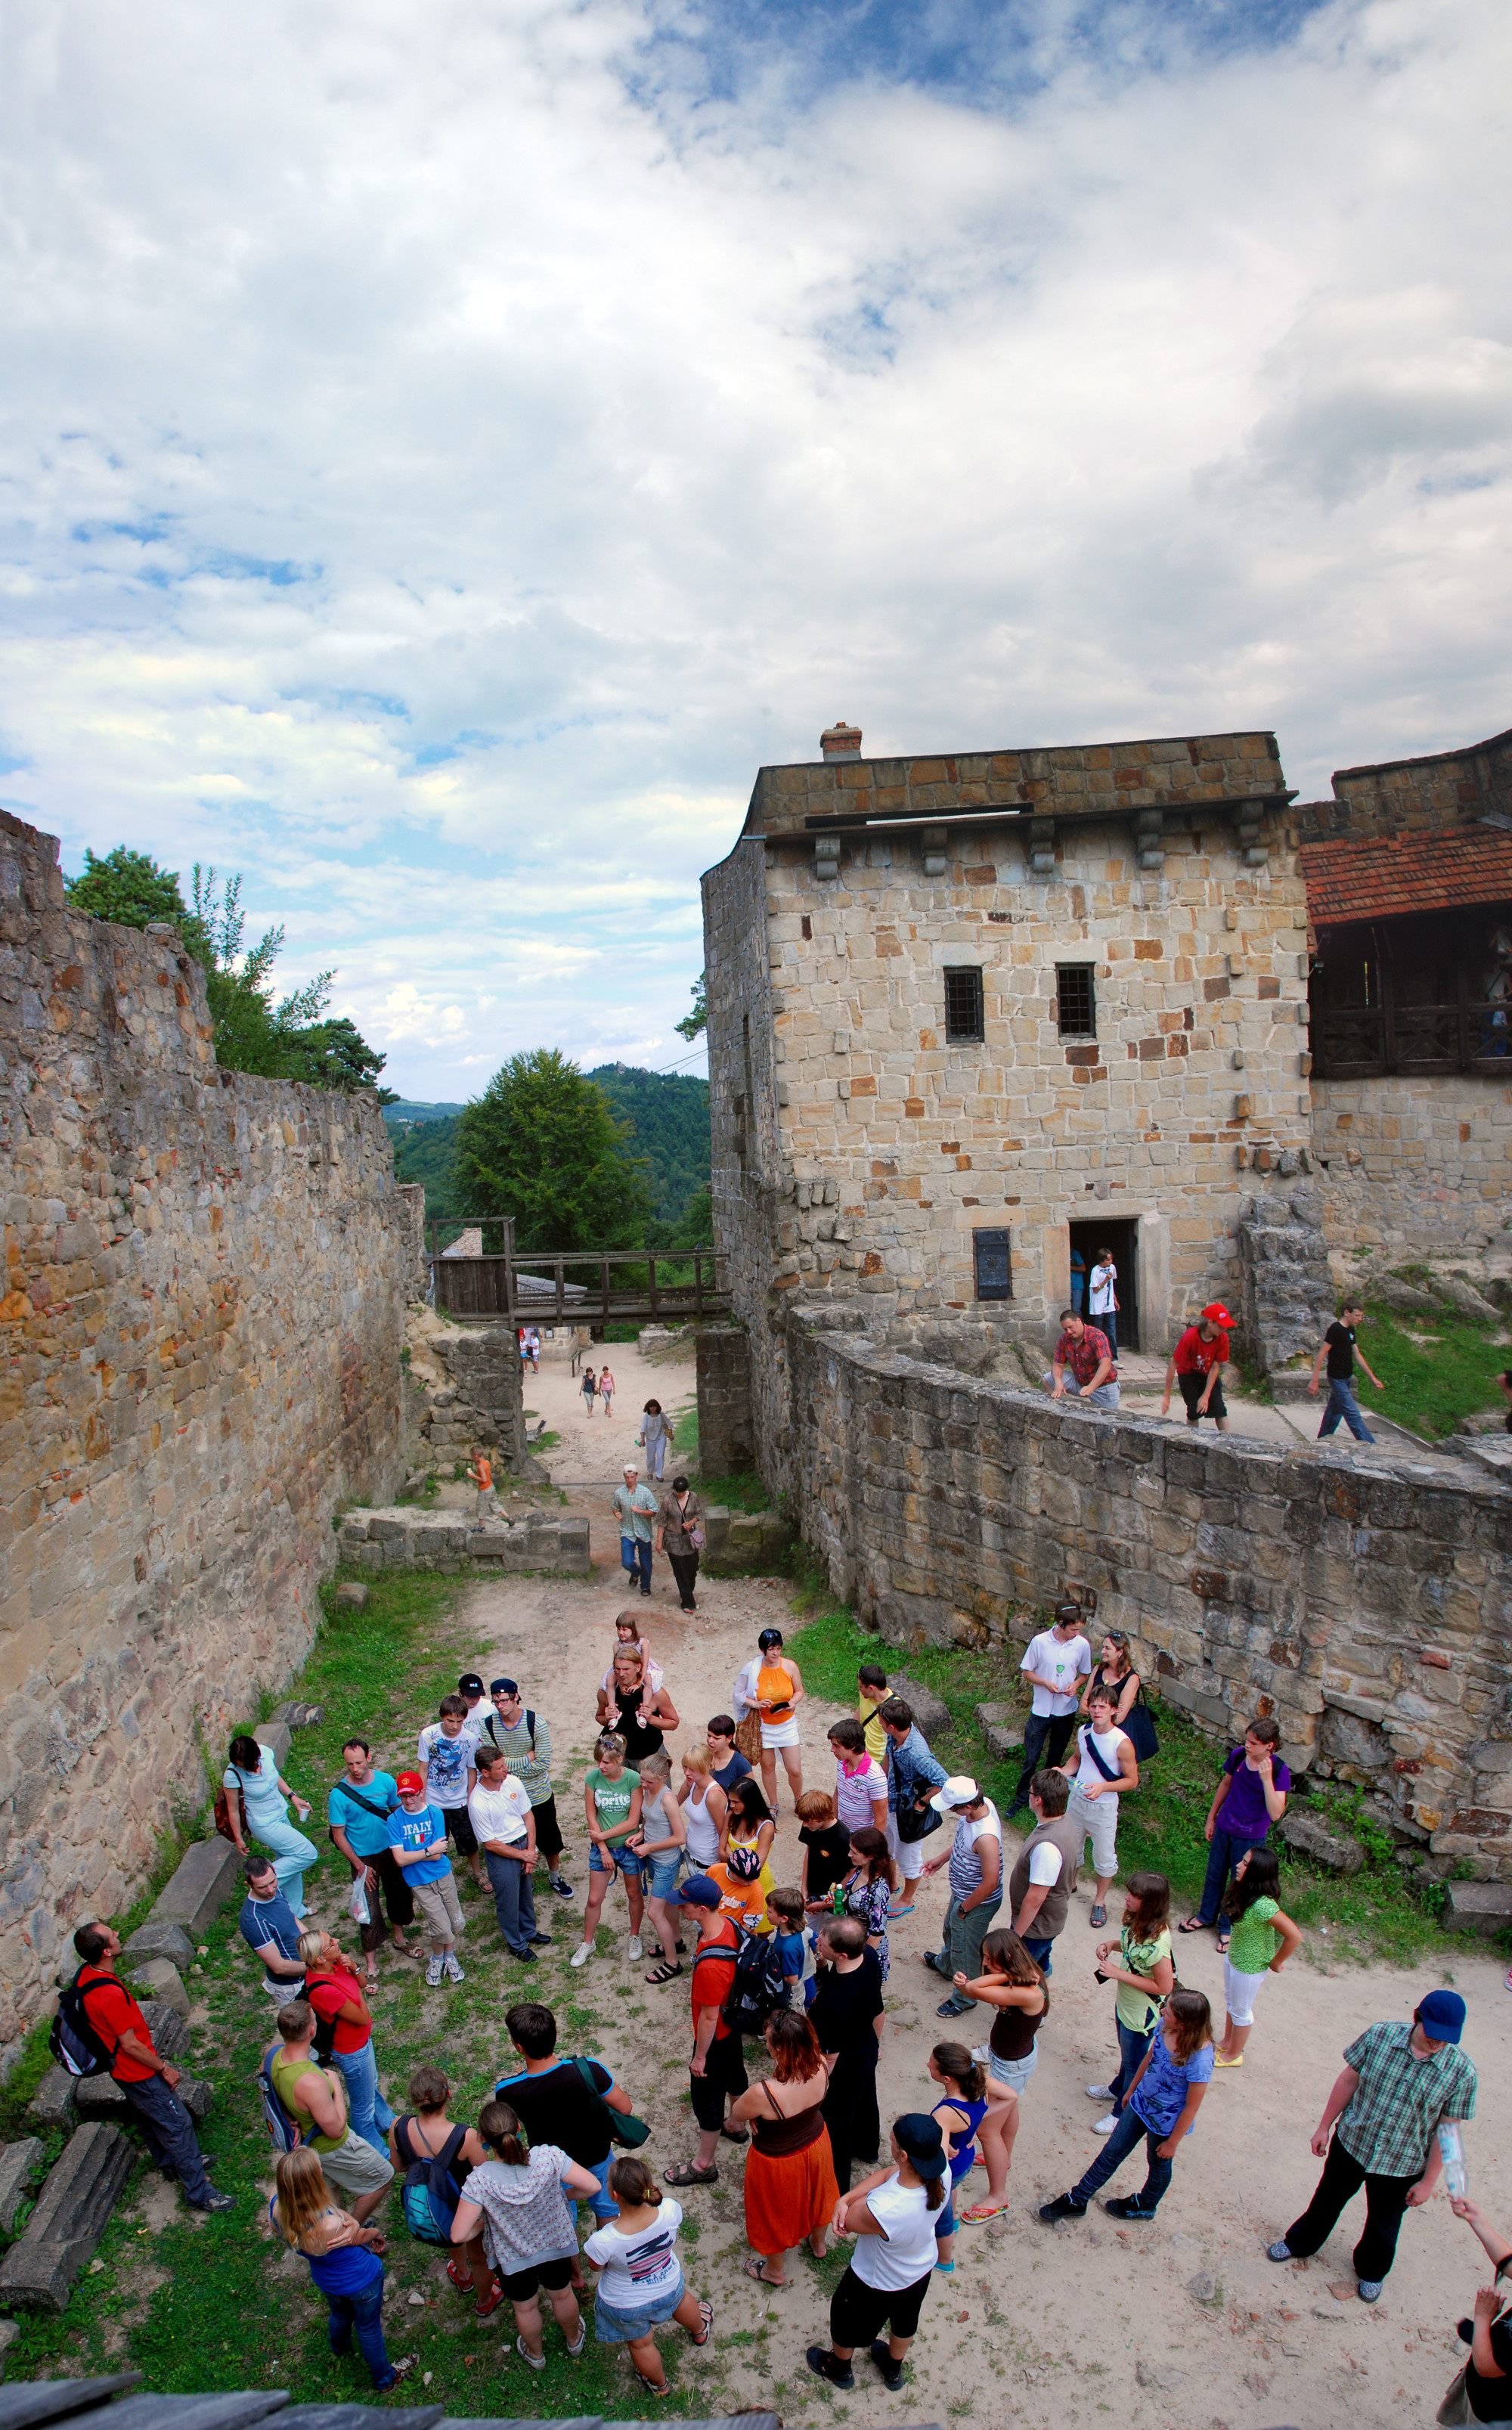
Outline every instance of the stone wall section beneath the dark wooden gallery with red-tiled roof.
<svg viewBox="0 0 1512 2430"><path fill-rule="evenodd" d="M1512 1067L1505 1084L1318 1079L1313 1149L1332 1249L1483 1249L1512 1217Z"/></svg>

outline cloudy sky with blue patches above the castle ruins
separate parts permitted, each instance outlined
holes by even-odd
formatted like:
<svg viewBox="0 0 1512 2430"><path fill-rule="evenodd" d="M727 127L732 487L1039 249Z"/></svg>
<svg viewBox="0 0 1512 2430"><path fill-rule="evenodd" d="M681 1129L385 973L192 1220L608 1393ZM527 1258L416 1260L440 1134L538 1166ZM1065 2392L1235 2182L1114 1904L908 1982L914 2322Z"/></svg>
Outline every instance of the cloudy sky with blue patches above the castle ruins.
<svg viewBox="0 0 1512 2430"><path fill-rule="evenodd" d="M0 799L413 1096L924 751L1512 724L1505 0L10 0Z"/></svg>

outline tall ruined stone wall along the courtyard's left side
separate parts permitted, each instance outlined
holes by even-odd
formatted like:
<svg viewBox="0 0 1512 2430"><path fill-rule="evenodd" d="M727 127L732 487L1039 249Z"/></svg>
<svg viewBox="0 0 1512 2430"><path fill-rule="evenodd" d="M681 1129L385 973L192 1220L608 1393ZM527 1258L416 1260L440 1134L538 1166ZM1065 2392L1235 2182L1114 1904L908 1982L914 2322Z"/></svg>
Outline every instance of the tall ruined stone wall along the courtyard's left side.
<svg viewBox="0 0 1512 2430"><path fill-rule="evenodd" d="M199 967L56 855L0 814L0 2061L394 1492L413 1264L377 1101L219 1072Z"/></svg>

